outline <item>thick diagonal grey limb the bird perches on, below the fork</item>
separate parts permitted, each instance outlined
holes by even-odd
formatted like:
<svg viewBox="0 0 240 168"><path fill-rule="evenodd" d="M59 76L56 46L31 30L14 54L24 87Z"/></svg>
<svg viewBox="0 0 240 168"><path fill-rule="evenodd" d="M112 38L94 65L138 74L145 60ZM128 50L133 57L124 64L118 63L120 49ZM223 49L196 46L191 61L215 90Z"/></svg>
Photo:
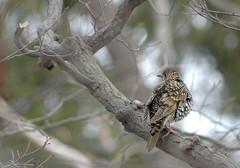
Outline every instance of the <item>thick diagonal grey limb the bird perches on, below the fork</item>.
<svg viewBox="0 0 240 168"><path fill-rule="evenodd" d="M72 57L72 61L77 69L72 68L73 65L70 63L66 63L64 60L56 57L56 62L60 68L84 84L90 90L91 94L122 122L126 131L147 140L150 128L142 121L143 111L134 108L132 102L106 78L94 60L91 48L86 46L82 39L74 38L71 42L72 44L70 45L75 46L73 47L75 48L75 55ZM165 133L163 131L161 137ZM161 137L157 143L159 149L186 161L192 167L239 167L221 150L215 150L201 144L198 137L183 138L170 135L164 140Z"/></svg>

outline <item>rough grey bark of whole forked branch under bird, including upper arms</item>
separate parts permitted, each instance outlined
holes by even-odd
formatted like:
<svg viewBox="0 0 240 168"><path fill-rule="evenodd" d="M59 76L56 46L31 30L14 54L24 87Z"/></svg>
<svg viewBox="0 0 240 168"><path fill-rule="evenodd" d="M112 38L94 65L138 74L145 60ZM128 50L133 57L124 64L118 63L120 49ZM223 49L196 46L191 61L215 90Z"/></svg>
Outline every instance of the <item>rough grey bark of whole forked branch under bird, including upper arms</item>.
<svg viewBox="0 0 240 168"><path fill-rule="evenodd" d="M49 13L61 11L62 8L58 4L62 2L60 1L61 0L52 1L58 9L52 8L52 6L49 5L49 9L52 9ZM43 40L42 44L44 45L41 47L44 49L44 54L42 50L39 50L37 54L39 54L41 58L54 60L63 71L66 71L78 82L86 86L91 94L101 102L109 112L115 115L127 132L131 132L147 140L149 126L142 122L143 110L136 108L136 106L108 80L93 57L93 53L121 33L133 9L142 2L144 2L144 0L123 1L113 20L95 35L88 38L69 37L64 39L62 44L59 44L54 41L54 39L56 39L56 35L53 33L55 30L54 26L52 27L53 31L48 33L50 37L44 36L44 39L42 39L43 35L48 32L49 29L47 29L48 27L40 26L39 39L40 41L41 39ZM60 13L58 12L57 15L60 15ZM48 16L51 17L52 15ZM52 25L55 24L54 20L56 21L56 18L57 17L52 20ZM15 40L19 41L19 39ZM18 43L16 43L16 45L21 48ZM61 51L63 50L65 53L72 53L70 57L71 61L64 61L62 59ZM165 133L166 132L163 131L160 136ZM239 167L239 165L227 157L225 153L201 144L198 137L183 138L169 135L164 140L160 137L156 147L176 158L186 161L192 167Z"/></svg>

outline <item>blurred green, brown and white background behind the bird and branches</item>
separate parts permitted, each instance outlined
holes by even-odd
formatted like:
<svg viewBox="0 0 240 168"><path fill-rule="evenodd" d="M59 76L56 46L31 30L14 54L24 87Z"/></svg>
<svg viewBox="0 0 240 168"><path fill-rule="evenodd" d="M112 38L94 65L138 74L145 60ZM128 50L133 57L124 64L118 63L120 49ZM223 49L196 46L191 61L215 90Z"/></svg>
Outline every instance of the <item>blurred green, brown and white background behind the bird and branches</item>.
<svg viewBox="0 0 240 168"><path fill-rule="evenodd" d="M91 2L92 13L85 2ZM57 31L60 42L68 36L93 35L95 29L109 23L121 2L65 0L64 8L70 8ZM207 4L213 10L240 13L238 0L209 0ZM13 36L19 23L29 22L22 36L27 44L37 38L37 28L46 17L46 1L1 0L0 58L18 50ZM219 17L239 25L239 17ZM129 99L142 102L147 101L153 87L160 82L157 74L166 67L179 69L193 94L194 107L187 118L173 127L183 135L199 135L203 143L223 148L240 163L239 38L239 31L197 15L185 0L152 0L134 10L121 35L99 50L95 58L120 91ZM121 124L104 111L87 89L58 67L52 71L40 69L36 59L26 56L1 63L0 94L16 113L81 152L93 167L189 167L160 150L146 152L144 140L124 132ZM50 112L54 114L41 119ZM97 115L52 125L90 113ZM12 153L23 152L30 139L4 120L0 121L0 131L4 131L0 137L0 162L7 165L13 160ZM30 148L38 147L32 143ZM35 155L38 153L31 157ZM51 152L44 152L37 160L43 161L49 155ZM71 167L57 155L44 166Z"/></svg>

